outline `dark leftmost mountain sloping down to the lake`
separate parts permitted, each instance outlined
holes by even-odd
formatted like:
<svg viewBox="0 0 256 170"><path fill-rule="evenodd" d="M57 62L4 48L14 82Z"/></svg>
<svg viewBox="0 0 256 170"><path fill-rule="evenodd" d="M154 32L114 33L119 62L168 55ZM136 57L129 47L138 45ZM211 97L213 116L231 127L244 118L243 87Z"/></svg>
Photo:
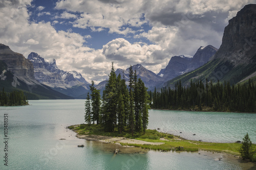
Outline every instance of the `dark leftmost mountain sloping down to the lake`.
<svg viewBox="0 0 256 170"><path fill-rule="evenodd" d="M0 44L0 78L1 90L23 90L28 99L73 99L39 83L34 77L33 63L4 44Z"/></svg>

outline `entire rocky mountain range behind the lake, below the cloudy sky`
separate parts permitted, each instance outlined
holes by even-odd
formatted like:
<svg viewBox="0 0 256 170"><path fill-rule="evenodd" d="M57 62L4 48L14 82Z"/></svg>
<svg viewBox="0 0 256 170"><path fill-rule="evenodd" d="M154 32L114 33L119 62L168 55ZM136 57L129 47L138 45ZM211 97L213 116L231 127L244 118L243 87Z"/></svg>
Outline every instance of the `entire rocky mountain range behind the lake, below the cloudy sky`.
<svg viewBox="0 0 256 170"><path fill-rule="evenodd" d="M255 19L256 5L246 5L229 20L219 50L207 45L200 46L193 57L173 56L158 74L141 64L132 67L148 90L163 86L174 88L178 81L187 86L190 80L200 79L230 84L246 82L249 78L256 81ZM128 80L129 68L118 68L115 72ZM47 62L36 53L26 59L4 44L0 44L0 78L1 88L21 89L39 99L84 99L90 88L90 83L79 72L63 71L55 60ZM96 88L102 91L107 81L100 82Z"/></svg>

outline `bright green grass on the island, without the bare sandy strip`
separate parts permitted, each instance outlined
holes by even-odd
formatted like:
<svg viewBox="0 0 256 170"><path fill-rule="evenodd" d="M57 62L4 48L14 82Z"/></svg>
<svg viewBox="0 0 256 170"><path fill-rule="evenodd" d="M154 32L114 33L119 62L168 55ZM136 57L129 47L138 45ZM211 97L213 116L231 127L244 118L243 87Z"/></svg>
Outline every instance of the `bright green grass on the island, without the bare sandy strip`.
<svg viewBox="0 0 256 170"><path fill-rule="evenodd" d="M140 147L143 149L150 150L161 150L161 151L188 151L195 152L198 150L210 151L210 152L224 152L232 155L240 155L238 149L241 143L211 143L211 142L201 142L195 140L186 140L180 138L179 136L174 136L171 134L160 133L156 130L146 130L145 134L142 132L134 133L134 136L129 131L125 131L121 134L118 133L117 129L114 132L104 132L104 129L99 125L88 126L86 124L81 124L77 126L70 126L69 129L74 130L76 133L88 134L88 135L103 135L103 136L118 136L133 138L137 140L143 140L147 142L163 142L161 145L151 145L151 144L129 144L120 143L121 145L130 145L134 147ZM160 140L164 138L165 140ZM256 144L253 144L255 147ZM256 154L254 154L253 159L256 159Z"/></svg>

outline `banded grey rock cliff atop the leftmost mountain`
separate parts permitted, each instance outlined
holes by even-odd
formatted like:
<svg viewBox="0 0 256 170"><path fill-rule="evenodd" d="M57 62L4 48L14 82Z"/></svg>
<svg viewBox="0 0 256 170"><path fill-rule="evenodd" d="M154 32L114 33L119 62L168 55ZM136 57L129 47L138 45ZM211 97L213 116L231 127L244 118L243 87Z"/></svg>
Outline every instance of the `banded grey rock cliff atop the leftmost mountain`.
<svg viewBox="0 0 256 170"><path fill-rule="evenodd" d="M0 60L7 64L8 69L15 76L20 78L34 78L33 63L22 54L13 52L5 44L0 44Z"/></svg>

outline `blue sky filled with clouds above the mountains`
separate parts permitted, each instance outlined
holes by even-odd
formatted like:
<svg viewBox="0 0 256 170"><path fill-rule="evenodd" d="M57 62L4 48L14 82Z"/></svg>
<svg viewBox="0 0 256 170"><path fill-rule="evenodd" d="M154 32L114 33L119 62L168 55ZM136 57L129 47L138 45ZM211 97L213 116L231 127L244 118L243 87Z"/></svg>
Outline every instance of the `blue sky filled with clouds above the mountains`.
<svg viewBox="0 0 256 170"><path fill-rule="evenodd" d="M156 74L175 55L220 47L228 20L256 0L0 0L0 43L35 52L89 82L142 64Z"/></svg>

